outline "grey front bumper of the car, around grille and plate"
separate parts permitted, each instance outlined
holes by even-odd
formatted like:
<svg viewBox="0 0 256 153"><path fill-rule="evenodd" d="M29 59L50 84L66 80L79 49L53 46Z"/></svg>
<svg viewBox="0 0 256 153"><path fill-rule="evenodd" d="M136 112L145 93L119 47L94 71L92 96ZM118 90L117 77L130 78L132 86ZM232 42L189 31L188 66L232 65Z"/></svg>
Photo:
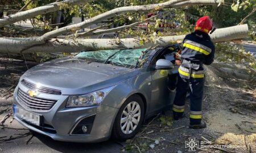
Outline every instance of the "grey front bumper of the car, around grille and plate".
<svg viewBox="0 0 256 153"><path fill-rule="evenodd" d="M57 99L57 102L47 111L32 110L19 101L18 88L24 92L29 90L19 83L14 92L13 104L28 112L43 116L43 123L40 126L36 126L14 114L14 118L20 124L26 126L26 128L47 135L56 141L100 142L109 139L118 108L103 104L93 107L65 108L68 99L67 95L54 95L56 97L53 97L49 94L40 94L38 96ZM90 120L92 124L90 132L86 134L73 134L73 130L80 121L91 116L94 116L94 118Z"/></svg>

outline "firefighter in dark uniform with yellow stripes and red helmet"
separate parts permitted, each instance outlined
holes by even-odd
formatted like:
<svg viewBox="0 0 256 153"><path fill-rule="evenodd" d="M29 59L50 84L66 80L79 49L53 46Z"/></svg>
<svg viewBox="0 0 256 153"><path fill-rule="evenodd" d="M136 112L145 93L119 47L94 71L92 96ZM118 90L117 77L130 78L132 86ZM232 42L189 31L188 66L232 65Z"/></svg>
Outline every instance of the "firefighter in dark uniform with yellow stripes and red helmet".
<svg viewBox="0 0 256 153"><path fill-rule="evenodd" d="M195 31L185 36L181 51L176 96L174 99L174 120L184 116L184 104L187 91L190 91L191 111L189 128L203 129L206 124L202 119L202 99L204 87L203 64L213 62L215 47L208 33L212 30L212 20L203 16L197 20Z"/></svg>

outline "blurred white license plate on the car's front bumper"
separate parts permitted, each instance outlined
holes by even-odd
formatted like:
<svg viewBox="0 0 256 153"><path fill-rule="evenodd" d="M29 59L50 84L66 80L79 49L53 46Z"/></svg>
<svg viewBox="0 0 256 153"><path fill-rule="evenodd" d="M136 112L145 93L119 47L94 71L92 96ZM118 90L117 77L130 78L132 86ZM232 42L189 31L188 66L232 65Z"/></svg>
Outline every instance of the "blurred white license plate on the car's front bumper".
<svg viewBox="0 0 256 153"><path fill-rule="evenodd" d="M22 118L23 120L40 126L42 116L28 112L22 108L19 108L17 105L13 105L13 112L16 116Z"/></svg>

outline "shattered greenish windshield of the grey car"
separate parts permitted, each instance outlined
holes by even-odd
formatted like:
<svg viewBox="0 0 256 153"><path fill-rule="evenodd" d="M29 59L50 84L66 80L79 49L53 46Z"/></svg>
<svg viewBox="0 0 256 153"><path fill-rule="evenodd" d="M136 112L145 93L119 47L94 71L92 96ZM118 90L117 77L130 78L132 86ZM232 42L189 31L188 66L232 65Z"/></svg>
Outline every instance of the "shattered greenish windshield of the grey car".
<svg viewBox="0 0 256 153"><path fill-rule="evenodd" d="M90 62L109 63L115 66L134 68L141 67L151 49L98 50L81 52L75 58ZM140 58L141 57L141 58Z"/></svg>

